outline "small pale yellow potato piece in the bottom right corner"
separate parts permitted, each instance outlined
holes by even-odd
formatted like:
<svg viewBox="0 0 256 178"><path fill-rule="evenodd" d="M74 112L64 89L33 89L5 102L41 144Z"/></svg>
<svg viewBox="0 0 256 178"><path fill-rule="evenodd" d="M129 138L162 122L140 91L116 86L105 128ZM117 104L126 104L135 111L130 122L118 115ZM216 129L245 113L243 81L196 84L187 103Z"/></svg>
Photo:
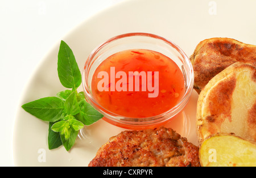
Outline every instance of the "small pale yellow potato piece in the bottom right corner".
<svg viewBox="0 0 256 178"><path fill-rule="evenodd" d="M204 167L255 167L256 144L232 134L217 134L206 139L199 149Z"/></svg>

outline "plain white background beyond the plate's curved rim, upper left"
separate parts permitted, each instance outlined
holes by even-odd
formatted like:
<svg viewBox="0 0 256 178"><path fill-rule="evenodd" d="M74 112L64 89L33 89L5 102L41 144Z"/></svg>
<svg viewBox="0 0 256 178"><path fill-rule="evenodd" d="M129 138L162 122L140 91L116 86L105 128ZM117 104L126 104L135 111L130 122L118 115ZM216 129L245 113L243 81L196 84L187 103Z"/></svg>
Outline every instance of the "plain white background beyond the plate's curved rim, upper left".
<svg viewBox="0 0 256 178"><path fill-rule="evenodd" d="M44 55L97 12L127 0L0 0L0 166L13 166L16 108Z"/></svg>

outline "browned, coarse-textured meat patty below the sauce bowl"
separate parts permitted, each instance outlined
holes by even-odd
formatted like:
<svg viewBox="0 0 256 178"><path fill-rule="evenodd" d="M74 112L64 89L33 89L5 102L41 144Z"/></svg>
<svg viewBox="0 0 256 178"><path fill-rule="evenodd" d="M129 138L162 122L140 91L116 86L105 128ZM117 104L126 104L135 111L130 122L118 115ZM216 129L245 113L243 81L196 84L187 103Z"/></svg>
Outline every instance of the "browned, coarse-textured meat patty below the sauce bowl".
<svg viewBox="0 0 256 178"><path fill-rule="evenodd" d="M171 128L125 131L101 146L88 166L199 167L199 148Z"/></svg>

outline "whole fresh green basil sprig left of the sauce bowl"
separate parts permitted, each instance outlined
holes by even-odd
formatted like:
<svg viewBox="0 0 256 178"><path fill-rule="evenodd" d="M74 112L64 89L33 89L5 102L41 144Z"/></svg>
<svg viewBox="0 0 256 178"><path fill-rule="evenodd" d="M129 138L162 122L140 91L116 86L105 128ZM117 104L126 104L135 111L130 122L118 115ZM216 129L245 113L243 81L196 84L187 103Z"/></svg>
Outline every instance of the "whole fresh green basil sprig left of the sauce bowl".
<svg viewBox="0 0 256 178"><path fill-rule="evenodd" d="M83 92L77 92L81 84L81 73L69 46L61 41L57 71L60 83L71 90L58 92L57 97L41 98L22 105L31 115L49 122L48 148L63 145L67 151L75 144L79 130L103 117L89 103Z"/></svg>

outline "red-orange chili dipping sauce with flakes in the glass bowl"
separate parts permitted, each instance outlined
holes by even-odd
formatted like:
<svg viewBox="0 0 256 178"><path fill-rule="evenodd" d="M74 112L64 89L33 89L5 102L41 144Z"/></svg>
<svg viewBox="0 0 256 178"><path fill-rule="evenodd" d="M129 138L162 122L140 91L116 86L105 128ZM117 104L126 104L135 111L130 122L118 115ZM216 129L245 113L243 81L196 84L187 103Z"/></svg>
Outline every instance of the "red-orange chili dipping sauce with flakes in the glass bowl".
<svg viewBox="0 0 256 178"><path fill-rule="evenodd" d="M169 57L146 50L124 50L106 58L92 78L97 103L117 115L160 115L183 97L183 73Z"/></svg>

